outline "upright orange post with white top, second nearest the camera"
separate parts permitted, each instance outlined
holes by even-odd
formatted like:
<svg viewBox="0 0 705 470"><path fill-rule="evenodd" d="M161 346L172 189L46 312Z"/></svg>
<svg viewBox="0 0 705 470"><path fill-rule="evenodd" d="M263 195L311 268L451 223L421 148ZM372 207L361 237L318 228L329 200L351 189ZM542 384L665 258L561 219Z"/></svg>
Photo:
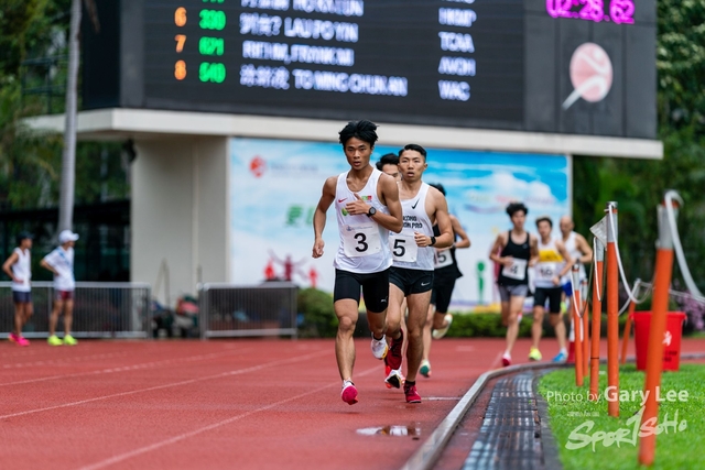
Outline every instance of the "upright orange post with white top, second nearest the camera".
<svg viewBox="0 0 705 470"><path fill-rule="evenodd" d="M619 267L617 203L607 203L607 413L619 417Z"/></svg>

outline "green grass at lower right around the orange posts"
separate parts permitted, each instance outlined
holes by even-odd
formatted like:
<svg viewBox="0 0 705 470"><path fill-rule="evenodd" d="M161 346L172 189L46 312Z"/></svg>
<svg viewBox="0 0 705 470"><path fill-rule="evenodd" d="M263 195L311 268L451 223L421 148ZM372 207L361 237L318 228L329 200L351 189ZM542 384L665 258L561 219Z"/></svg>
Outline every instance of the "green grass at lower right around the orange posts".
<svg viewBox="0 0 705 470"><path fill-rule="evenodd" d="M630 394L630 400L620 400L619 418L607 415L605 389L607 375L600 369L599 401L587 400L589 379L583 387L575 385L575 371L564 369L544 375L539 383L539 393L549 404L551 430L558 446L561 461L566 470L570 469L634 469L638 468L639 440L631 442L616 442L603 438L605 433L628 429L625 439L632 439L634 420L638 427L639 417L634 415L641 408L640 392L643 391L644 374L636 370L636 365L628 364L620 368L619 387ZM661 402L659 406L659 423L665 419L677 423L668 427L657 436L657 452L653 469L701 469L704 468L702 449L705 447L705 365L681 364L679 372L664 372L661 376L661 397L669 391L675 393L687 391L686 401ZM631 394L633 394L633 401ZM579 395L579 396L578 396ZM683 395L682 395L683 397ZM677 422L675 414L677 413ZM666 417L668 415L668 417ZM632 420L629 422L629 418ZM590 430L578 428L586 422L593 422ZM680 428L679 428L680 424ZM603 433L600 433L603 431ZM574 433L571 438L571 433ZM592 436L589 445L582 448L566 448L568 444L579 445L582 438L576 434ZM625 434L627 434L625 431ZM593 444L595 450L593 450Z"/></svg>

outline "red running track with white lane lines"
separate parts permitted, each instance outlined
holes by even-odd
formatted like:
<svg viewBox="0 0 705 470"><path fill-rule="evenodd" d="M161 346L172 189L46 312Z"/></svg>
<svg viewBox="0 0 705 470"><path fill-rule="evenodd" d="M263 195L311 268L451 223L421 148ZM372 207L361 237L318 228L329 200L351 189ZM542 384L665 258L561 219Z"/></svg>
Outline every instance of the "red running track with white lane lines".
<svg viewBox="0 0 705 470"><path fill-rule="evenodd" d="M543 352L557 352L544 340ZM340 401L333 340L0 345L0 462L37 469L397 469L474 381L501 339L434 341L423 403L383 384L356 342L360 403ZM518 362L528 340L518 341ZM684 341L703 351L705 341ZM419 436L362 435L402 426ZM412 434L414 434L412 433Z"/></svg>

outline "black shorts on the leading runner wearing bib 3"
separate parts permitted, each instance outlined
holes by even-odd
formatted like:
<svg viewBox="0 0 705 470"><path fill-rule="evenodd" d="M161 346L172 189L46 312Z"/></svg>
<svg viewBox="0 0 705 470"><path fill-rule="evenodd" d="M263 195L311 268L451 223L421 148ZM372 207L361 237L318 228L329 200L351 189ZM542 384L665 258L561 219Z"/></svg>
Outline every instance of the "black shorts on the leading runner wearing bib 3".
<svg viewBox="0 0 705 470"><path fill-rule="evenodd" d="M335 270L333 302L351 298L359 304L360 287L362 287L365 306L369 311L379 314L387 309L387 304L389 303L389 270L366 274Z"/></svg>

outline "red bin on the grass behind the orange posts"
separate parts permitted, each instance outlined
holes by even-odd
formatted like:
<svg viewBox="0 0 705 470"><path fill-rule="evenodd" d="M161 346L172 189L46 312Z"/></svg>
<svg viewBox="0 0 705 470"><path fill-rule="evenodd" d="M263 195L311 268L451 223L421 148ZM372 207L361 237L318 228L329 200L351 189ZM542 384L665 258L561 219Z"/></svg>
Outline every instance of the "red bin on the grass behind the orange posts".
<svg viewBox="0 0 705 470"><path fill-rule="evenodd" d="M677 371L681 364L681 334L683 332L683 311L666 311L665 331L663 332L663 370ZM651 311L634 311L634 342L637 343L637 370L647 370L647 351L649 350L649 330Z"/></svg>

